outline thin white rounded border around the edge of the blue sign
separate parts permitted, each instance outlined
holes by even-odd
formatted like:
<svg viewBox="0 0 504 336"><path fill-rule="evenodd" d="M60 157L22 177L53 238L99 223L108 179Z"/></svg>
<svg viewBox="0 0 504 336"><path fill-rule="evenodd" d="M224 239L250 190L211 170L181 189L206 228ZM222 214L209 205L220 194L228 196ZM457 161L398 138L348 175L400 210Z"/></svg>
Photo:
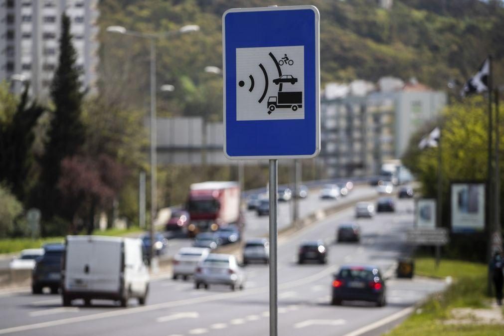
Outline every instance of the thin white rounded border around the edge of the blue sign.
<svg viewBox="0 0 504 336"><path fill-rule="evenodd" d="M315 14L315 118L316 118L316 147L315 152L310 155L267 155L267 156L229 156L227 154L226 144L226 15L229 13L241 12L263 12L263 11L293 11L293 10L311 10ZM320 13L317 7L311 5L302 6L282 6L282 7L258 7L258 8L233 8L222 15L222 79L223 79L223 101L224 101L224 155L229 160L275 160L275 159L311 159L319 155L321 150L320 142Z"/></svg>

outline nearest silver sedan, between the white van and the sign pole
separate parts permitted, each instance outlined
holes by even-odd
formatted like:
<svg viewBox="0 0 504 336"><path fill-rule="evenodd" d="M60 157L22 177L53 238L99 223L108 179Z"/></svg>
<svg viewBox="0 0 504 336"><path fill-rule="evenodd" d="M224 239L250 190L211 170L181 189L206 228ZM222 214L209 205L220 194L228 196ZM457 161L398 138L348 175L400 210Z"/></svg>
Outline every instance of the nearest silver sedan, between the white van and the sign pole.
<svg viewBox="0 0 504 336"><path fill-rule="evenodd" d="M210 253L198 263L194 275L196 289L201 285L205 286L205 289L210 285L227 285L234 291L236 288L242 290L244 284L245 273L232 254Z"/></svg>

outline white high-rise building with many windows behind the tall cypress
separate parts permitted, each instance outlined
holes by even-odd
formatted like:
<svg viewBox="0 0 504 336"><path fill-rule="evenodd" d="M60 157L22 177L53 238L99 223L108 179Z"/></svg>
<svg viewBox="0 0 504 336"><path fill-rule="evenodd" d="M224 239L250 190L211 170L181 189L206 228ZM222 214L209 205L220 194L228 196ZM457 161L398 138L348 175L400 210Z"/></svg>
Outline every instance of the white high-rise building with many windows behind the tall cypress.
<svg viewBox="0 0 504 336"><path fill-rule="evenodd" d="M0 81L23 75L33 96L48 97L65 12L71 20L83 89L96 92L97 5L98 0L0 0ZM21 82L12 85L14 92L21 92Z"/></svg>

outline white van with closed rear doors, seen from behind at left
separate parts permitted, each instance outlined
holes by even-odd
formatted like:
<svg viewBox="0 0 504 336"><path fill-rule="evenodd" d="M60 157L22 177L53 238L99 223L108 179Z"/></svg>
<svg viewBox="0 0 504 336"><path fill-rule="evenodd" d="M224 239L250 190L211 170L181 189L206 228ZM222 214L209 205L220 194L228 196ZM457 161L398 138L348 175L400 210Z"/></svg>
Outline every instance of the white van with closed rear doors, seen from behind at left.
<svg viewBox="0 0 504 336"><path fill-rule="evenodd" d="M130 298L145 304L149 290L149 271L144 263L142 240L103 236L67 236L62 262L64 306L74 299L119 301L122 307Z"/></svg>

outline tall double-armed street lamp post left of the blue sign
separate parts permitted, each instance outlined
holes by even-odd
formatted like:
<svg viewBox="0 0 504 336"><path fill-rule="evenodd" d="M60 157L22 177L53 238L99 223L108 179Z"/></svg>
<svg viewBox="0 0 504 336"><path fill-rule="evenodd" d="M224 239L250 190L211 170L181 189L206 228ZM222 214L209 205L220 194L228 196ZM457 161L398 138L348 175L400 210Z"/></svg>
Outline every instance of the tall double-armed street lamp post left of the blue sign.
<svg viewBox="0 0 504 336"><path fill-rule="evenodd" d="M156 153L156 41L163 37L170 37L178 34L185 34L190 32L199 31L200 27L197 25L183 26L178 30L160 32L160 33L142 33L137 31L127 30L122 26L109 26L106 31L109 33L117 33L122 35L135 36L146 38L150 43L150 163L151 163L151 225L149 227L150 233L150 265L151 270L154 265L154 221L157 212L157 181L156 181L156 168L157 168L157 153ZM169 90L167 90L169 91Z"/></svg>

